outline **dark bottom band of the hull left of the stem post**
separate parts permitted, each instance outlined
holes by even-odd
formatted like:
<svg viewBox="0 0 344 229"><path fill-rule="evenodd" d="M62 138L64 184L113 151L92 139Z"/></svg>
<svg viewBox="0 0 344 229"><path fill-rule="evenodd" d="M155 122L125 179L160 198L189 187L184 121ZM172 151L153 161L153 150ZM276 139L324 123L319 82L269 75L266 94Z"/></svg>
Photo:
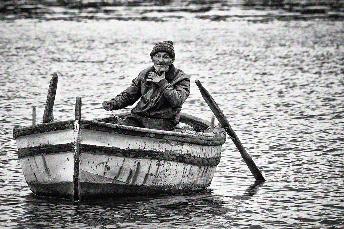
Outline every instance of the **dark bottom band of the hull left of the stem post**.
<svg viewBox="0 0 344 229"><path fill-rule="evenodd" d="M37 184L28 182L31 191L38 196L73 199L73 182Z"/></svg>

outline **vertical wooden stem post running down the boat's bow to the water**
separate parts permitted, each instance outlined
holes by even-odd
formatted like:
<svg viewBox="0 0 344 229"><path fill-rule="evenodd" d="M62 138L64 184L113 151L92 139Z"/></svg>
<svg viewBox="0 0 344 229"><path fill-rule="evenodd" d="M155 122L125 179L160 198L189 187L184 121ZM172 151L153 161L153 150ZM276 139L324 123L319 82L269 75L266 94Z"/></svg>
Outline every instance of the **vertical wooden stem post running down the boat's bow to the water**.
<svg viewBox="0 0 344 229"><path fill-rule="evenodd" d="M74 162L74 174L73 174L73 192L74 192L74 204L80 203L80 168L79 168L79 145L80 145L80 123L79 120L81 118L81 97L76 97L75 101L75 121L74 121L74 134L73 134L73 162Z"/></svg>

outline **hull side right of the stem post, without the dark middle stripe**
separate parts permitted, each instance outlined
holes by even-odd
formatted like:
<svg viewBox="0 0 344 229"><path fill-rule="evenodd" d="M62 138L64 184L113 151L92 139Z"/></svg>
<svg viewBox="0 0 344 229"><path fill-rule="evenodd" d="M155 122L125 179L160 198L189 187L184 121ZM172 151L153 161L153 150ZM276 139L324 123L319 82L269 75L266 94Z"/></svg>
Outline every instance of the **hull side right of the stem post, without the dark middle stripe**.
<svg viewBox="0 0 344 229"><path fill-rule="evenodd" d="M115 141L109 146L111 139ZM85 188L81 188L82 196L104 195L104 190L99 193L98 184L108 187L108 196L176 194L182 190L204 190L212 181L216 165L202 166L171 161L168 160L168 153L165 154L165 159L164 155L155 159L150 152L164 154L168 150L173 154L183 154L185 150L191 156L208 158L219 157L221 153L221 145L204 146L176 141L156 141L154 138L90 130L80 131L80 144L100 146L98 148L111 147L116 152L115 155L109 155L100 151L82 151L80 185L85 185ZM130 152L120 153L127 150ZM141 156L134 153L130 155L131 152L138 152ZM124 191L123 188L128 190Z"/></svg>

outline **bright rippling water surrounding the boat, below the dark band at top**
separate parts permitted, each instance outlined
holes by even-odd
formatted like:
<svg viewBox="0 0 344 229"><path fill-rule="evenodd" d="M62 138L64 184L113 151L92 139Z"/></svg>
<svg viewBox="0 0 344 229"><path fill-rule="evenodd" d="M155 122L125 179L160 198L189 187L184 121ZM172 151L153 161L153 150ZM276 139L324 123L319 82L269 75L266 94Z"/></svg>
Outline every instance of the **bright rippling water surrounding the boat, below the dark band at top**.
<svg viewBox="0 0 344 229"><path fill-rule="evenodd" d="M58 74L55 120L107 116L113 98L151 66L155 43L174 42L191 78L187 112L213 116L212 94L265 183L255 183L230 139L206 193L70 201L26 185L13 126L41 123ZM1 228L343 228L343 21L0 22Z"/></svg>

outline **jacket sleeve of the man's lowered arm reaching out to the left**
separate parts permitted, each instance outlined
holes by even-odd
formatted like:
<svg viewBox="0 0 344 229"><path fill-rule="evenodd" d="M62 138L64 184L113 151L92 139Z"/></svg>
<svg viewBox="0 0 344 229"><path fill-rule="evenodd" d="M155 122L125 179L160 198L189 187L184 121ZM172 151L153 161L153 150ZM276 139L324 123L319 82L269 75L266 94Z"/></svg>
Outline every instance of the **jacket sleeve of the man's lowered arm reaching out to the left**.
<svg viewBox="0 0 344 229"><path fill-rule="evenodd" d="M126 90L122 91L118 96L111 99L114 101L114 107L112 110L118 110L125 108L129 105L133 105L141 97L141 78L136 77L132 80L132 84Z"/></svg>

